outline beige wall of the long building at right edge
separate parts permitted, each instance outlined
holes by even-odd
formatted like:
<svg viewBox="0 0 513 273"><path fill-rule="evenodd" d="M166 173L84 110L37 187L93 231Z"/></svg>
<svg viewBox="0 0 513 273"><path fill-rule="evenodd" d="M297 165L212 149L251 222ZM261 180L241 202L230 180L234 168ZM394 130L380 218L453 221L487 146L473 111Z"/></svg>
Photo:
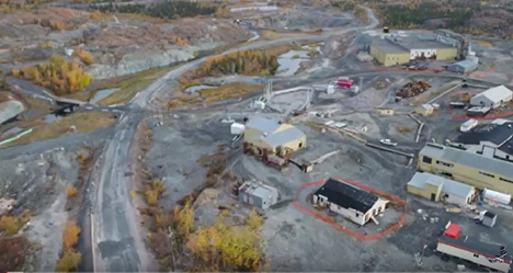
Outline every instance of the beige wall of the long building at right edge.
<svg viewBox="0 0 513 273"><path fill-rule="evenodd" d="M460 181L477 189L490 189L505 194L513 194L513 178L501 177L498 173L482 171L468 166L447 160L432 158L431 163L423 161L423 155L419 153L419 170L434 174L443 174L455 181ZM436 163L440 161L441 163ZM442 164L445 162L445 166Z"/></svg>

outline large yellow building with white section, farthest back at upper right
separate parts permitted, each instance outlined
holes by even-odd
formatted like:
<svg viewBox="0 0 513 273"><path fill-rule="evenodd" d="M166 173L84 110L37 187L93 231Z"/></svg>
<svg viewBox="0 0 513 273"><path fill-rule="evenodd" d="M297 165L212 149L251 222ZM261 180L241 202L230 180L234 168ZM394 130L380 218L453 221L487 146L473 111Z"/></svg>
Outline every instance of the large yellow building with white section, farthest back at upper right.
<svg viewBox="0 0 513 273"><path fill-rule="evenodd" d="M371 55L381 65L397 66L415 59L455 59L457 48L433 38L388 36L376 38Z"/></svg>

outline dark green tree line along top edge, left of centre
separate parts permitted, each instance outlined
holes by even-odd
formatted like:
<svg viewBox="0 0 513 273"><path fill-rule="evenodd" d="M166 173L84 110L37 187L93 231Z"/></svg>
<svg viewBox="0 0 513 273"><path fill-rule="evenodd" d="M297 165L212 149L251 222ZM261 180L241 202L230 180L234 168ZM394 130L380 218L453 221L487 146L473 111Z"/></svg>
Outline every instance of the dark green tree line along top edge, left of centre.
<svg viewBox="0 0 513 273"><path fill-rule="evenodd" d="M210 15L216 12L216 8L197 2L169 1L152 4L91 4L90 9L102 12L136 13L152 18L178 19L196 15Z"/></svg>

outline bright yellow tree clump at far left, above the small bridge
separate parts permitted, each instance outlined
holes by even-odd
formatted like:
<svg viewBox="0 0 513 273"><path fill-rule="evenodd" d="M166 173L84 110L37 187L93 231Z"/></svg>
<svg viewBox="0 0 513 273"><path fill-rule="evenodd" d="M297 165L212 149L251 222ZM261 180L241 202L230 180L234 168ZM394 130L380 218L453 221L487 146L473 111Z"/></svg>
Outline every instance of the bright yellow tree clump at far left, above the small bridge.
<svg viewBox="0 0 513 273"><path fill-rule="evenodd" d="M77 61L69 61L58 55L52 56L48 64L13 69L11 75L48 88L57 95L82 91L92 81L91 75Z"/></svg>

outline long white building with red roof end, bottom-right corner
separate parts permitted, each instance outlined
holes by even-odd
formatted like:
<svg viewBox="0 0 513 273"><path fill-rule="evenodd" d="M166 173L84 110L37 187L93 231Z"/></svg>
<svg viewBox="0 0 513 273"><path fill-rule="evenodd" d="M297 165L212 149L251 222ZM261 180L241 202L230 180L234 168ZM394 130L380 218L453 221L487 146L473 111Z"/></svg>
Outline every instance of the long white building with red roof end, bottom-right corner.
<svg viewBox="0 0 513 273"><path fill-rule="evenodd" d="M448 261L451 257L456 257L500 272L510 272L512 258L504 246L478 241L460 235L460 230L458 225L449 223L438 238L436 251L442 253L442 260Z"/></svg>

